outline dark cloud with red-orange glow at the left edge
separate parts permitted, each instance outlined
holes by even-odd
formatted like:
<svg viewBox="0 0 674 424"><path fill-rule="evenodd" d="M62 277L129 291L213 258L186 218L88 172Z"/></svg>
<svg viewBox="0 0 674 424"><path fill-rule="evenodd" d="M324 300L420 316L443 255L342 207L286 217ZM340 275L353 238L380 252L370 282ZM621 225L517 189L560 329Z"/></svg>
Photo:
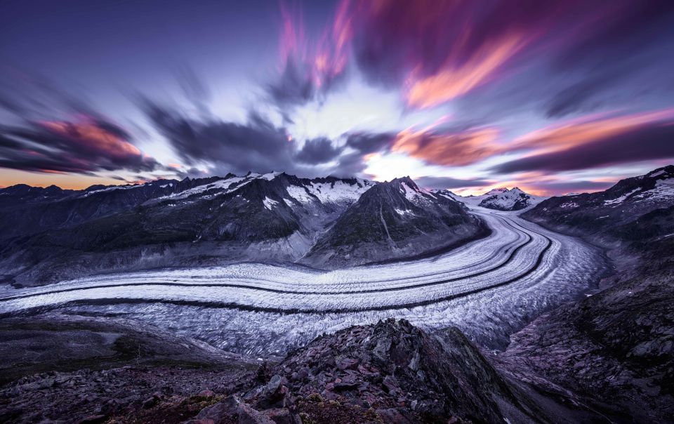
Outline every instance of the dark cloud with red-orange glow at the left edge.
<svg viewBox="0 0 674 424"><path fill-rule="evenodd" d="M5 81L0 90L0 107L16 121L0 126L0 167L83 174L163 168L84 97L65 93L39 75L21 76L15 84Z"/></svg>

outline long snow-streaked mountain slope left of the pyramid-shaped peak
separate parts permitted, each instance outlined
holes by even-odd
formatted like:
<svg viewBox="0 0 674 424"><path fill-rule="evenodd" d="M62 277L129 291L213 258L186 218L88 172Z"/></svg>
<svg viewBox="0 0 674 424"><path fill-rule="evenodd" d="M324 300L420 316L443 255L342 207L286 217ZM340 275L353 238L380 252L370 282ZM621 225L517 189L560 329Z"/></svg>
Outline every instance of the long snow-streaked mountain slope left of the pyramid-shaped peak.
<svg viewBox="0 0 674 424"><path fill-rule="evenodd" d="M284 173L227 175L110 216L7 239L0 274L34 285L112 270L295 260L372 185Z"/></svg>

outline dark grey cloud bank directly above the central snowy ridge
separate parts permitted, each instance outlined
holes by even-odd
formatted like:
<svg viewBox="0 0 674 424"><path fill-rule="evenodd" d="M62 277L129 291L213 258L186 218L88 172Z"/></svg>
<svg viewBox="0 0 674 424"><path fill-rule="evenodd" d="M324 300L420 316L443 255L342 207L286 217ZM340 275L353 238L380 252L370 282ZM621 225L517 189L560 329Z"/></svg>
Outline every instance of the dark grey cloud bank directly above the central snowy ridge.
<svg viewBox="0 0 674 424"><path fill-rule="evenodd" d="M205 119L187 117L147 98L140 105L154 128L191 167L181 174L184 176L203 176L204 170L200 168L203 165L212 165L218 173L286 171L305 176L321 173L353 176L364 169L363 152L344 154L344 147L336 146L329 138L306 140L298 148L284 128L254 112L246 123L239 124L211 115ZM374 145L364 143L362 137L357 148L371 150ZM325 167L330 161L336 161L336 165Z"/></svg>

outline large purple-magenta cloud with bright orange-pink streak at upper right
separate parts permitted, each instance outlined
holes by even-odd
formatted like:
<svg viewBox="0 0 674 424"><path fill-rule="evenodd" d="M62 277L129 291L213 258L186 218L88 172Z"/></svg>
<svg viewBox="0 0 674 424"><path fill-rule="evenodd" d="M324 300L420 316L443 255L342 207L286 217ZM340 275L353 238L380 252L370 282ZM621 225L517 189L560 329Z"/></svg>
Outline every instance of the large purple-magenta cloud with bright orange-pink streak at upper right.
<svg viewBox="0 0 674 424"><path fill-rule="evenodd" d="M551 65L548 74L616 66L624 74L638 72L637 58L657 34L671 30L674 10L666 1L415 1L406 6L353 2L352 49L372 84L404 85L408 105L422 108L545 62ZM612 80L597 85L618 79ZM582 94L587 100L590 90L571 97ZM557 102L568 102L563 97ZM551 115L564 112L564 105L551 106Z"/></svg>

